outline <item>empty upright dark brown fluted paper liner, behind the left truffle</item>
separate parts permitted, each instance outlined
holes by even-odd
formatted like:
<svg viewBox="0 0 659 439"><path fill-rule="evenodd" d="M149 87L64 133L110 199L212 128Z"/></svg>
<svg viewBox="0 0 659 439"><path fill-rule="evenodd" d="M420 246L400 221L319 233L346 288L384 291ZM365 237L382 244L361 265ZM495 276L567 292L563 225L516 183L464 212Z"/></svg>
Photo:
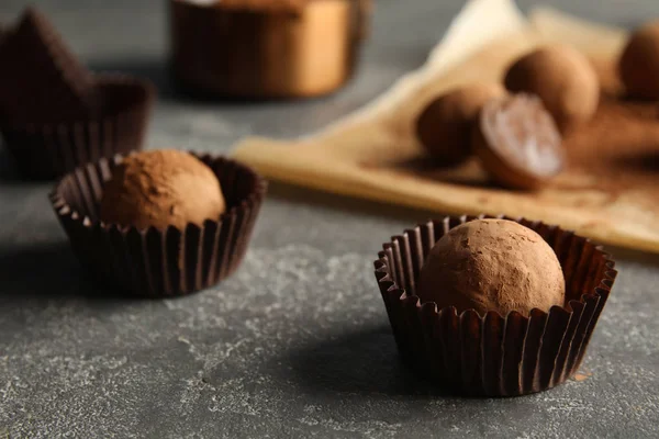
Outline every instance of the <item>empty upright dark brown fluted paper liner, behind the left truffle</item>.
<svg viewBox="0 0 659 439"><path fill-rule="evenodd" d="M0 122L22 175L53 179L86 162L142 148L155 88L124 75L99 76L96 88L103 102L98 117L57 124Z"/></svg>

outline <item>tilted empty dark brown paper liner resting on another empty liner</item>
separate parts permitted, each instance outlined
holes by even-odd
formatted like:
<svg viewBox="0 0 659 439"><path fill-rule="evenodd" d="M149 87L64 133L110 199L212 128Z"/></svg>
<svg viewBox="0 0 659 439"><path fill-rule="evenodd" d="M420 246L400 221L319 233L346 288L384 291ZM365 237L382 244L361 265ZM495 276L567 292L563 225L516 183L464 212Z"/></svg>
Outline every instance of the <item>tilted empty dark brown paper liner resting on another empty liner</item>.
<svg viewBox="0 0 659 439"><path fill-rule="evenodd" d="M27 8L0 45L0 117L55 123L90 117L93 75L69 50L46 16Z"/></svg>

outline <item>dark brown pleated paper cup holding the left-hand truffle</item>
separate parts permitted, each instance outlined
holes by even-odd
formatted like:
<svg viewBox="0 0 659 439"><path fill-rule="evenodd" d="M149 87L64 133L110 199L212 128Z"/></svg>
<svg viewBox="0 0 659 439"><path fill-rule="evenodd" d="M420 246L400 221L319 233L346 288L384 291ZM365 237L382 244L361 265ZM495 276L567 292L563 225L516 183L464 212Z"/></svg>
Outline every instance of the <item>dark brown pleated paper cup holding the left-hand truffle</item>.
<svg viewBox="0 0 659 439"><path fill-rule="evenodd" d="M227 211L217 221L185 229L137 229L99 221L103 183L119 156L65 176L51 202L80 262L104 281L144 296L189 294L233 273L247 250L267 184L236 161L197 157L220 179Z"/></svg>

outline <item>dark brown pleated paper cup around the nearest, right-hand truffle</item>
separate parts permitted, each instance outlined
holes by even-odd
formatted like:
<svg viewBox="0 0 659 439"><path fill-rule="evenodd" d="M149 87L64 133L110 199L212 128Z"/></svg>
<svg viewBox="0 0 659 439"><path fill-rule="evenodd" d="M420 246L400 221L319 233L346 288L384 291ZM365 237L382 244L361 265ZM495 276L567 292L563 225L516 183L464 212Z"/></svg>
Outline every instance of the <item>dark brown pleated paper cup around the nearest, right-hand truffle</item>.
<svg viewBox="0 0 659 439"><path fill-rule="evenodd" d="M401 357L420 374L459 394L516 396L551 389L581 364L617 274L615 263L601 247L572 232L506 218L537 232L556 251L566 278L565 306L502 317L474 311L458 315L455 307L421 304L415 282L428 252L449 229L474 218L418 225L393 237L379 254L376 278Z"/></svg>

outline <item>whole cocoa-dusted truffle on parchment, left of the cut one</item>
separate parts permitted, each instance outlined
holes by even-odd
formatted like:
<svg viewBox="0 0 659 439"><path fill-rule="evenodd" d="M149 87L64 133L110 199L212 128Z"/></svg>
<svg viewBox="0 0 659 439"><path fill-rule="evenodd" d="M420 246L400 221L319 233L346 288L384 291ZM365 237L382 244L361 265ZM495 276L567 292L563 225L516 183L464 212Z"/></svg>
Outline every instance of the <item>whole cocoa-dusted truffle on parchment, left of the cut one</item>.
<svg viewBox="0 0 659 439"><path fill-rule="evenodd" d="M498 83L474 83L450 90L421 113L416 120L416 136L438 161L460 162L471 155L471 126L480 109L504 93Z"/></svg>

